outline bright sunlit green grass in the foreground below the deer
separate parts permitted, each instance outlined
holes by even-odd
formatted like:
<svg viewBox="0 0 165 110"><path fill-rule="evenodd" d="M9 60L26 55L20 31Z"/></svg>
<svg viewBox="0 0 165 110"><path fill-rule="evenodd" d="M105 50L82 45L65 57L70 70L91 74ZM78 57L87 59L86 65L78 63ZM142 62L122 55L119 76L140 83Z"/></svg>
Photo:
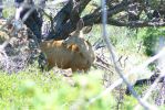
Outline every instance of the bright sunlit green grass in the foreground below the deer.
<svg viewBox="0 0 165 110"><path fill-rule="evenodd" d="M74 75L74 86L60 75L27 70L19 74L0 73L0 109L7 110L54 110L78 108L79 110L109 110L113 99L101 98L87 106L91 98L104 88L95 72L89 75Z"/></svg>

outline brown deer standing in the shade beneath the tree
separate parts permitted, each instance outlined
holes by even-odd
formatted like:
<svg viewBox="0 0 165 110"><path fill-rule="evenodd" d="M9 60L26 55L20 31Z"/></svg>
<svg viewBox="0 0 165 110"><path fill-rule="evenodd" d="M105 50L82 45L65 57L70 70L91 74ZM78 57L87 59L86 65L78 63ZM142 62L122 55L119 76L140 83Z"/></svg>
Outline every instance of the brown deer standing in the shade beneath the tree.
<svg viewBox="0 0 165 110"><path fill-rule="evenodd" d="M80 20L75 32L66 40L51 40L40 43L41 52L48 62L48 69L58 66L62 69L71 68L72 72L90 69L95 59L90 42L83 38L83 22Z"/></svg>

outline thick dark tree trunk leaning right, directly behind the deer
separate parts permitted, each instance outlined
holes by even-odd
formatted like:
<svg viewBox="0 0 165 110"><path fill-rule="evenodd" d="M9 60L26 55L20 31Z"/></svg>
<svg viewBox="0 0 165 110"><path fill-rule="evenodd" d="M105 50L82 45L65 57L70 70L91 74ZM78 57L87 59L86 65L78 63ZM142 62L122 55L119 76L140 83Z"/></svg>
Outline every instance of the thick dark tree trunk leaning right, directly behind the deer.
<svg viewBox="0 0 165 110"><path fill-rule="evenodd" d="M63 40L76 28L82 11L91 0L70 0L66 6L54 16L54 30L50 32L49 38Z"/></svg>

